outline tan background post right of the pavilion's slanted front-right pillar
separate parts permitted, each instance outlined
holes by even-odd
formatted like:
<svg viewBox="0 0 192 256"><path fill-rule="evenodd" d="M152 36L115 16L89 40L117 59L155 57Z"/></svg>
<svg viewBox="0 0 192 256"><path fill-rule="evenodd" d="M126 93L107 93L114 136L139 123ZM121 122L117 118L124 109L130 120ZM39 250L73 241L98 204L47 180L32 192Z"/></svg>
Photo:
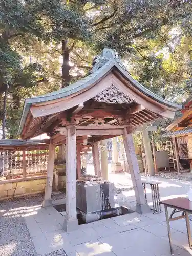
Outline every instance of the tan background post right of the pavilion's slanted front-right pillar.
<svg viewBox="0 0 192 256"><path fill-rule="evenodd" d="M150 137L148 136L148 131L144 130L142 132L143 134L143 144L145 149L145 157L146 157L146 163L148 168L148 174L150 176L155 175L155 169L154 169L154 163L153 163L153 157L152 157L152 150L150 145Z"/></svg>

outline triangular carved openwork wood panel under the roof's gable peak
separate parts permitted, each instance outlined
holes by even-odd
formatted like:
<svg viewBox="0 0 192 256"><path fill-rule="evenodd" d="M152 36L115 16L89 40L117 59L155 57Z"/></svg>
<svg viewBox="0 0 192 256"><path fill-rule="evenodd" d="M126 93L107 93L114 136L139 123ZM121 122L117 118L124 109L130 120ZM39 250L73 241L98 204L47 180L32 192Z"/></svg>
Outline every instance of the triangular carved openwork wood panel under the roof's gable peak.
<svg viewBox="0 0 192 256"><path fill-rule="evenodd" d="M131 104L133 102L133 99L119 91L115 86L110 86L93 97L93 99L95 101L105 102L107 104Z"/></svg>

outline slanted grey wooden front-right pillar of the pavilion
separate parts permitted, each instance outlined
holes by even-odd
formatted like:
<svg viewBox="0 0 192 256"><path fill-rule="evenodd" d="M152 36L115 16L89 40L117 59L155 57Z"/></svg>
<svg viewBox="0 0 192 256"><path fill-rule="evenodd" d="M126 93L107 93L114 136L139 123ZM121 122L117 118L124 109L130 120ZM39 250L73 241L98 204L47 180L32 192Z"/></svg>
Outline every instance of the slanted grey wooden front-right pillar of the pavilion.
<svg viewBox="0 0 192 256"><path fill-rule="evenodd" d="M126 152L127 162L129 164L129 170L133 182L133 187L136 197L136 211L140 214L150 212L150 207L146 203L144 196L143 185L141 182L141 175L139 172L139 165L137 156L134 148L133 136L131 133L127 133L126 128L124 129L123 142Z"/></svg>

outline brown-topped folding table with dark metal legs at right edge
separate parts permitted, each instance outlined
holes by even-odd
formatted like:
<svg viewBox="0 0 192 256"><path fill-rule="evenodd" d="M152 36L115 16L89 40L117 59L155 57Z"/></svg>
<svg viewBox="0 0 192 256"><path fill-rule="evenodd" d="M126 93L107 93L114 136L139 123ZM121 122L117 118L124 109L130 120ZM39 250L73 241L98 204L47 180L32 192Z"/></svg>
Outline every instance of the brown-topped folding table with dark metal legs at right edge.
<svg viewBox="0 0 192 256"><path fill-rule="evenodd" d="M170 253L173 255L173 247L172 247L172 240L170 237L170 221L175 221L179 219L184 219L186 221L186 227L187 227L187 236L188 236L188 244L191 248L191 231L190 231L190 222L189 222L189 214L192 214L192 202L189 201L188 198L184 197L177 197L172 199L167 199L160 201L160 204L163 204L165 207L165 217L166 217L166 223L167 223L167 231L168 231L168 240L170 245ZM170 214L170 217L168 217L168 210L167 207L173 208L172 214ZM173 217L174 214L177 212L182 212L181 216Z"/></svg>

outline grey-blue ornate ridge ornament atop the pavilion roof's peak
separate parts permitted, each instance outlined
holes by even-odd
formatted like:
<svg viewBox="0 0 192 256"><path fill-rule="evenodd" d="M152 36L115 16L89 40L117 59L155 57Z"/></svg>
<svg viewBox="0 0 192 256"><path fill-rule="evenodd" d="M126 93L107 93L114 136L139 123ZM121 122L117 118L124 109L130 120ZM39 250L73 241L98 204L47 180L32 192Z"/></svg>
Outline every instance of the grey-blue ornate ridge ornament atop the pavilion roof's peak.
<svg viewBox="0 0 192 256"><path fill-rule="evenodd" d="M105 65L106 62L108 62L111 59L115 59L119 63L121 68L126 69L126 67L121 62L120 57L117 55L117 53L113 49L104 48L102 50L102 52L100 53L100 55L97 55L94 58L93 67L90 72L94 73L95 71L97 71L99 68L101 68L103 65Z"/></svg>

